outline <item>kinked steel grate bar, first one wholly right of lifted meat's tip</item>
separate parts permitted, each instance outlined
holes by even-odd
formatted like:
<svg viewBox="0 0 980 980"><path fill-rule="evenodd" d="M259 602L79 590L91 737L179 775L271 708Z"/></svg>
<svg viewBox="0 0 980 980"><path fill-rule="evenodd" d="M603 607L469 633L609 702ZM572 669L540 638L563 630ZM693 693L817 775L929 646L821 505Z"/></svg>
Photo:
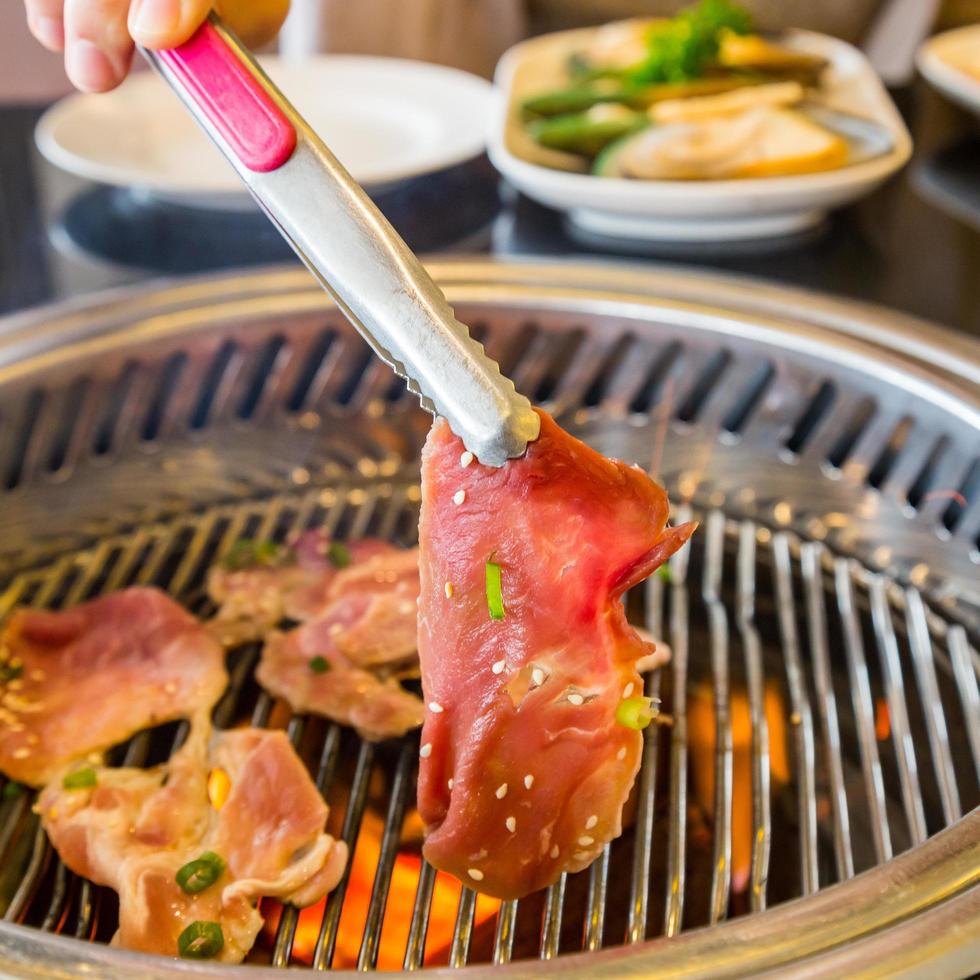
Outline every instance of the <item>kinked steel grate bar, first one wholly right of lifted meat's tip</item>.
<svg viewBox="0 0 980 980"><path fill-rule="evenodd" d="M711 906L714 925L728 917L732 885L732 719L728 682L728 617L721 601L721 575L725 556L725 515L714 510L705 522L705 562L701 595L711 630L711 673L714 680L715 770L714 843Z"/></svg>

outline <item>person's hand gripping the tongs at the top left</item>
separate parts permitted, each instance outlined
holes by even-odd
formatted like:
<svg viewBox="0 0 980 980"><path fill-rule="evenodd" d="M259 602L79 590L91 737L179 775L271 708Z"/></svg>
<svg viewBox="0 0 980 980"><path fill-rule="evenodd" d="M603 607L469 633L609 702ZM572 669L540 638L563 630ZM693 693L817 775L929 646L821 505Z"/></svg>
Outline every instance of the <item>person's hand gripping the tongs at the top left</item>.
<svg viewBox="0 0 980 980"><path fill-rule="evenodd" d="M115 88L129 71L133 42L169 48L186 41L214 7L249 45L275 36L289 0L24 0L31 33L64 51L65 71L83 92Z"/></svg>

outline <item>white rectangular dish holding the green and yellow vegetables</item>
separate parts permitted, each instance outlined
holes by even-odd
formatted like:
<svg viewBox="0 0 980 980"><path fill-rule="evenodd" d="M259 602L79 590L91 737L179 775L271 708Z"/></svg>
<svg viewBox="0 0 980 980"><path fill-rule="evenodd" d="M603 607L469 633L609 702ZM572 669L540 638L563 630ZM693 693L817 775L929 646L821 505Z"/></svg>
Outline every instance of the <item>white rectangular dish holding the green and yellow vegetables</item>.
<svg viewBox="0 0 980 980"><path fill-rule="evenodd" d="M831 208L869 193L912 152L908 130L864 55L835 38L792 31L788 44L830 62L820 102L876 124L889 137L890 149L823 173L744 180L624 180L522 159L515 152L522 131L518 103L534 91L560 87L562 66L588 34L589 29L545 35L504 54L494 79L488 137L490 159L512 184L542 204L567 211L587 231L658 241L730 241L798 232Z"/></svg>

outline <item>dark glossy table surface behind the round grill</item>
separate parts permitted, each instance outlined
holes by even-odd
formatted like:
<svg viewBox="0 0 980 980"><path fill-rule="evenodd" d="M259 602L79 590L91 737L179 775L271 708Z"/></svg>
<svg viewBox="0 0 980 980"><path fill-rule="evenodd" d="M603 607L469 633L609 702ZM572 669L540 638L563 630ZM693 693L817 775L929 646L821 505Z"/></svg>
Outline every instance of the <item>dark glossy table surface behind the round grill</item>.
<svg viewBox="0 0 980 980"><path fill-rule="evenodd" d="M718 269L879 303L980 336L980 122L917 82L894 93L915 154L792 241L600 250L485 160L377 196L422 254L586 256ZM293 261L255 212L207 212L70 177L41 159L43 107L0 106L0 312L160 275Z"/></svg>

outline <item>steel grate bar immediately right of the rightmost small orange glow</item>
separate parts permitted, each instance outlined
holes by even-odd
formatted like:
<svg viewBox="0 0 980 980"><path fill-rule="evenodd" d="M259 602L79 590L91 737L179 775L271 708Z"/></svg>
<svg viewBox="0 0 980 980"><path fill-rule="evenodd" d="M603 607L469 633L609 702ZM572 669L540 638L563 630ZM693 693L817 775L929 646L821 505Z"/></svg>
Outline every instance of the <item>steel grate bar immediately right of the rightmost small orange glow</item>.
<svg viewBox="0 0 980 980"><path fill-rule="evenodd" d="M905 700L905 680L898 657L898 641L888 610L885 580L876 575L871 580L871 618L878 641L881 673L885 683L885 699L891 720L892 743L898 762L898 777L902 785L902 804L913 845L921 844L928 836L926 814L919 785L919 767L915 744L909 726Z"/></svg>

